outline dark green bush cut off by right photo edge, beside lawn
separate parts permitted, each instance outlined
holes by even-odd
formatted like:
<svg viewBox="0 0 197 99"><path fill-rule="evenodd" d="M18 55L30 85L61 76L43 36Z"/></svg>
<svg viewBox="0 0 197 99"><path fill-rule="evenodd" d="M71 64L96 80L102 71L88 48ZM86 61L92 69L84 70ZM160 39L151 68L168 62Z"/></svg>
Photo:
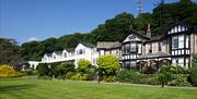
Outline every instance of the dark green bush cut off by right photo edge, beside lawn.
<svg viewBox="0 0 197 99"><path fill-rule="evenodd" d="M190 79L194 86L197 86L197 66L190 70Z"/></svg>

